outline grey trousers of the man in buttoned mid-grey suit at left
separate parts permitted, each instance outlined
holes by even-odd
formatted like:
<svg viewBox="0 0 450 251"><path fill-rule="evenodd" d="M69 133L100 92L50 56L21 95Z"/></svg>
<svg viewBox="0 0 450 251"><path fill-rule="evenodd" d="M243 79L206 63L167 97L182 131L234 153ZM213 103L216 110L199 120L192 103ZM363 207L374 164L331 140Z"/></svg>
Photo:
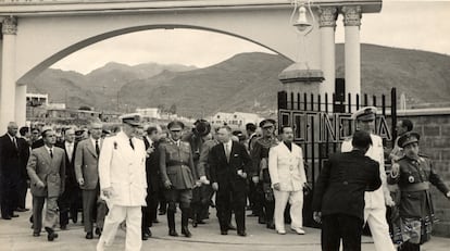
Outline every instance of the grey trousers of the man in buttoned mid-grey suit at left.
<svg viewBox="0 0 450 251"><path fill-rule="evenodd" d="M43 226L52 228L58 222L58 198L57 197L33 197L33 231L40 233L42 229L43 202L47 200L46 217Z"/></svg>

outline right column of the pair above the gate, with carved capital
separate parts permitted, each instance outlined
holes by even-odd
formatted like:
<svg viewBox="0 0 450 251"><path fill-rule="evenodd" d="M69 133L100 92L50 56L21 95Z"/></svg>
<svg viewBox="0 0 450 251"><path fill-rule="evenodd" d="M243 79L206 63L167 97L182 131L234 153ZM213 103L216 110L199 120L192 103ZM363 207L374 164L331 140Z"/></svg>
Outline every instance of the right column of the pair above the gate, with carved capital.
<svg viewBox="0 0 450 251"><path fill-rule="evenodd" d="M343 7L342 13L346 38L346 92L354 97L361 93L361 8Z"/></svg>

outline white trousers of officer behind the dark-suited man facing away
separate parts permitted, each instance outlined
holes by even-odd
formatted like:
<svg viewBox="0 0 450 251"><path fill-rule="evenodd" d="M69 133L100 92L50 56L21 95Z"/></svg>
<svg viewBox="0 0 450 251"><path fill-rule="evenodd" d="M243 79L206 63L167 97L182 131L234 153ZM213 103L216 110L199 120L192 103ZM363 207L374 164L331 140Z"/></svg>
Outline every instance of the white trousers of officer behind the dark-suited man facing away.
<svg viewBox="0 0 450 251"><path fill-rule="evenodd" d="M395 251L386 221L386 208L364 209L364 222L368 224L376 251Z"/></svg>

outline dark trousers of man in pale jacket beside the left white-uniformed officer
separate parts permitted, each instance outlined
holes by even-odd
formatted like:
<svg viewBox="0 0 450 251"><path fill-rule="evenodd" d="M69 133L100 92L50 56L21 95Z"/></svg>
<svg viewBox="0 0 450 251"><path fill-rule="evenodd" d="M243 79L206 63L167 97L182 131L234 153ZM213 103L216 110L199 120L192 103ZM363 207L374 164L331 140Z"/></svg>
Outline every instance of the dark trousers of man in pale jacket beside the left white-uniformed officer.
<svg viewBox="0 0 450 251"><path fill-rule="evenodd" d="M107 203L99 198L98 189L83 190L83 219L86 233L92 231L93 222L97 223L97 227L103 228L107 211Z"/></svg>

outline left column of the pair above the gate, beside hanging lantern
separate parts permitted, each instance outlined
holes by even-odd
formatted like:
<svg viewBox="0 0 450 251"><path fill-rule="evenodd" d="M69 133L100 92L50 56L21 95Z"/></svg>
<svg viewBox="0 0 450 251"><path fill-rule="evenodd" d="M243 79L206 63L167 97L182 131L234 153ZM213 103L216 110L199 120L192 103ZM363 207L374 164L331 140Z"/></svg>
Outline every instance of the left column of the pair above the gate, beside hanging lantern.
<svg viewBox="0 0 450 251"><path fill-rule="evenodd" d="M332 98L333 92L335 92L336 78L335 29L337 9L335 7L320 8L318 13L318 25L321 27L321 66L325 78L320 86L320 93L323 97L325 93L328 93L328 97Z"/></svg>

